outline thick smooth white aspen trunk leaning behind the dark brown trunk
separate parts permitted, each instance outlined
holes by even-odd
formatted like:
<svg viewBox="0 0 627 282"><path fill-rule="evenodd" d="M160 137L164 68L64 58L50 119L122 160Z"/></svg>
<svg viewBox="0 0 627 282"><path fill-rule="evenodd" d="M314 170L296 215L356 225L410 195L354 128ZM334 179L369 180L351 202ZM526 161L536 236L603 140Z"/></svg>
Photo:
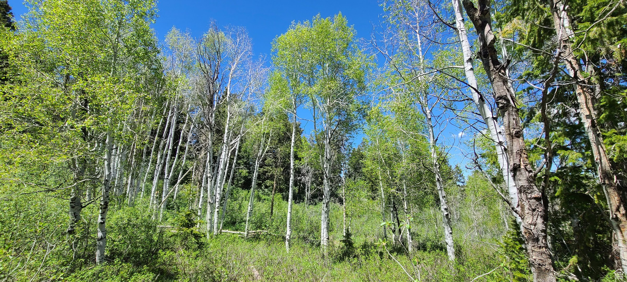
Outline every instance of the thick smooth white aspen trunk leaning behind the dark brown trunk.
<svg viewBox="0 0 627 282"><path fill-rule="evenodd" d="M463 52L464 58L464 72L466 74L466 81L468 81L468 85L470 86L470 92L472 93L473 101L483 118L483 122L488 127L488 133L490 133L490 138L494 142L494 146L497 152L497 160L498 165L501 169L501 173L503 175L503 180L505 180L505 185L507 185L507 192L510 197L510 201L512 203L512 207L516 211L519 211L519 196L518 189L514 182L514 178L512 177L512 172L509 167L509 159L506 154L507 144L505 141L505 135L503 133L502 127L497 123L497 117L494 115L490 107L485 103L485 98L479 93L479 86L477 83L477 78L475 77L475 69L473 68L473 53L470 51L470 42L468 41L468 34L466 33L466 28L464 26L464 18L461 14L461 3L459 0L453 1L453 9L455 10L455 27L457 29L457 35L460 38L461 50ZM522 219L520 219L519 214L516 212L512 212L516 221L522 226ZM521 227L522 228L522 227Z"/></svg>

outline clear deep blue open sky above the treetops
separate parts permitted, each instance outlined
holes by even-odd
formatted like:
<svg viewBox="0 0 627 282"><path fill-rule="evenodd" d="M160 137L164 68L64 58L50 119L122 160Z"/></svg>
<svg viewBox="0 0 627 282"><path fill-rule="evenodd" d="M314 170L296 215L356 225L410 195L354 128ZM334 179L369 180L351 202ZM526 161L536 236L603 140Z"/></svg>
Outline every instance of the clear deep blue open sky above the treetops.
<svg viewBox="0 0 627 282"><path fill-rule="evenodd" d="M21 1L9 0L9 4L16 17L27 11ZM318 13L326 18L342 12L349 23L354 25L357 36L369 38L371 23L377 23L382 13L377 0L162 0L157 7L159 18L153 27L161 40L172 26L189 29L198 38L209 28L211 19L215 19L219 26L232 24L246 27L253 39L255 53L267 55L270 55L272 40L285 33L292 21L305 21Z"/></svg>

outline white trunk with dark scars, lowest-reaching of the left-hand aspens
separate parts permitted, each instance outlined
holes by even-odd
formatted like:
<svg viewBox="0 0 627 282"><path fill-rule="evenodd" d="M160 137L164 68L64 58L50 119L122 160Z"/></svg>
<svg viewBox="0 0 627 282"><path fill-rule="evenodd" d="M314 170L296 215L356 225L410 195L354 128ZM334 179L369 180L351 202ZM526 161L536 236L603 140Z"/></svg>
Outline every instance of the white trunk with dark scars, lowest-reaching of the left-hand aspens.
<svg viewBox="0 0 627 282"><path fill-rule="evenodd" d="M105 223L107 221L107 212L109 211L109 189L111 187L111 153L113 151L112 137L110 133L107 133L105 149L105 172L102 188L102 199L100 199L100 211L98 212L98 234L96 237L96 264L102 264L105 262L105 251L107 249L107 227Z"/></svg>

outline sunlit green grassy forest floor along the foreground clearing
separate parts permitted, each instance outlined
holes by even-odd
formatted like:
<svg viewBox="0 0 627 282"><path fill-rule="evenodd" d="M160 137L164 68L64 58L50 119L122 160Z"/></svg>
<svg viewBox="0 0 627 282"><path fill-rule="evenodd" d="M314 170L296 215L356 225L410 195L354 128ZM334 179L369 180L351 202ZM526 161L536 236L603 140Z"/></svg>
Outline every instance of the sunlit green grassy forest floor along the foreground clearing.
<svg viewBox="0 0 627 282"><path fill-rule="evenodd" d="M110 263L100 277L115 278L101 281L472 281L499 268L493 256L467 254L453 263L443 251L416 251L409 258L374 243L347 249L336 242L324 254L304 243L293 244L288 253L275 236L245 240L224 234L200 242L199 248L159 251L159 259L141 267ZM477 281L510 281L504 273Z"/></svg>

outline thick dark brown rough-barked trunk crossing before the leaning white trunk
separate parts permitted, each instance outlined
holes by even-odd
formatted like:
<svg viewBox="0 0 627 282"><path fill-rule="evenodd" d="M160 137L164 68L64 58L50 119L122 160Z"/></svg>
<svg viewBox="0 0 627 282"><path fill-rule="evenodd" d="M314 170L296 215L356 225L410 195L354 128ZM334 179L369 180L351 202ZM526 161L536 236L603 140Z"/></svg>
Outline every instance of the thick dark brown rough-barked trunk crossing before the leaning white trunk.
<svg viewBox="0 0 627 282"><path fill-rule="evenodd" d="M556 272L552 266L547 242L545 222L547 211L542 202L542 191L535 185L534 169L527 157L514 90L510 87L504 66L498 60L498 52L495 48L496 38L492 31L490 0L479 0L478 3L477 9L470 0L463 0L466 13L477 29L480 44L479 57L492 82L498 110L503 113L509 169L518 188L522 231L531 271L534 281L553 282L556 281Z"/></svg>

